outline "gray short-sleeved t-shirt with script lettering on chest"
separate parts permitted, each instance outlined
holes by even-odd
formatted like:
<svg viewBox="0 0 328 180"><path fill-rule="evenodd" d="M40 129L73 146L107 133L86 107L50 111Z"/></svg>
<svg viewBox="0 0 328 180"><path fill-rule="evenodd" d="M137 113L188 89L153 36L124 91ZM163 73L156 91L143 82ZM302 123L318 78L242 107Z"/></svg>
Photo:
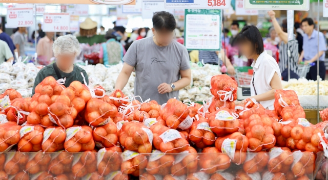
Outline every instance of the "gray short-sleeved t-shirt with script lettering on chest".
<svg viewBox="0 0 328 180"><path fill-rule="evenodd" d="M158 46L153 37L133 42L123 61L135 67L134 95L141 96L142 100L151 98L160 105L170 98L178 98L179 91L159 94L157 87L178 81L180 70L190 68L185 46L175 40L168 46Z"/></svg>

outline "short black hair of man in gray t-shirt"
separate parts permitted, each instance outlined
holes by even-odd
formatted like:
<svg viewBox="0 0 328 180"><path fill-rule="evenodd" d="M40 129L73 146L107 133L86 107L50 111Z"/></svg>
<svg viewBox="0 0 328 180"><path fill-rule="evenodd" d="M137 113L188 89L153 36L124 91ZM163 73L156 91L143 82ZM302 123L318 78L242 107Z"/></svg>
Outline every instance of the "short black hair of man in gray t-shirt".
<svg viewBox="0 0 328 180"><path fill-rule="evenodd" d="M155 12L153 16L153 27L155 30L174 31L176 22L174 16L167 11Z"/></svg>

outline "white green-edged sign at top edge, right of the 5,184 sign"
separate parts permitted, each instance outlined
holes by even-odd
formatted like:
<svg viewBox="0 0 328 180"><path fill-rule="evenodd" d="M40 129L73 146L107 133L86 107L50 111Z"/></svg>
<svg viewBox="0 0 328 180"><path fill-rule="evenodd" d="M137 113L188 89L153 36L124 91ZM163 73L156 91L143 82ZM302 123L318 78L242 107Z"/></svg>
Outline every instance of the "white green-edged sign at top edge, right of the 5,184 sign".
<svg viewBox="0 0 328 180"><path fill-rule="evenodd" d="M244 0L244 9L309 11L310 0Z"/></svg>

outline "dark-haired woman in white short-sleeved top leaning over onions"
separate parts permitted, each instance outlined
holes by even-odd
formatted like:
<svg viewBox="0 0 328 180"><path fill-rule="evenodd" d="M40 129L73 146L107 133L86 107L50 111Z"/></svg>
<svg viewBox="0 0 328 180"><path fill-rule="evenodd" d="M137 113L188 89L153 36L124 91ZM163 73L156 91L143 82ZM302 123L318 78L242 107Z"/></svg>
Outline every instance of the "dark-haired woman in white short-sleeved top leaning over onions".
<svg viewBox="0 0 328 180"><path fill-rule="evenodd" d="M281 73L276 60L263 47L261 33L254 25L246 25L237 35L242 55L254 59L251 96L265 109L273 110L275 90L282 89Z"/></svg>

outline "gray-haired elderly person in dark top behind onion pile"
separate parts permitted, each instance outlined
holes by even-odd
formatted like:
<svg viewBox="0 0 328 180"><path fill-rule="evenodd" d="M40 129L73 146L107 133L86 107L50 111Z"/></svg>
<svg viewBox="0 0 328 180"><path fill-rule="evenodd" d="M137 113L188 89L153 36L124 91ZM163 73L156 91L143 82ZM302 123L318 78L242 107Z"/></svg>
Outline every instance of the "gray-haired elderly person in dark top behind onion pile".
<svg viewBox="0 0 328 180"><path fill-rule="evenodd" d="M32 96L35 93L35 87L48 76L53 76L56 80L66 78L64 86L68 87L73 81L79 81L84 84L84 79L81 75L82 72L86 82L89 83L87 72L73 64L76 56L81 52L78 40L75 36L65 35L58 37L52 45L52 50L56 62L42 68L37 73Z"/></svg>

